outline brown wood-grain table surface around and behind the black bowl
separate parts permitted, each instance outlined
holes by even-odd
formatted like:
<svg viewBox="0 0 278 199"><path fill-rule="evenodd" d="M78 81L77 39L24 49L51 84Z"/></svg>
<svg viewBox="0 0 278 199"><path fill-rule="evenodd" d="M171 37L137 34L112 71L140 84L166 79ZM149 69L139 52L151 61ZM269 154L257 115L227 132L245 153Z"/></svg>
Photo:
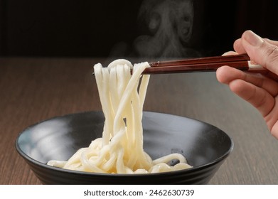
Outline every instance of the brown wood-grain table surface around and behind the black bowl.
<svg viewBox="0 0 278 199"><path fill-rule="evenodd" d="M94 58L0 58L0 184L40 184L14 145L31 124L101 110ZM191 117L229 134L234 150L210 184L277 184L278 141L215 72L152 75L144 110Z"/></svg>

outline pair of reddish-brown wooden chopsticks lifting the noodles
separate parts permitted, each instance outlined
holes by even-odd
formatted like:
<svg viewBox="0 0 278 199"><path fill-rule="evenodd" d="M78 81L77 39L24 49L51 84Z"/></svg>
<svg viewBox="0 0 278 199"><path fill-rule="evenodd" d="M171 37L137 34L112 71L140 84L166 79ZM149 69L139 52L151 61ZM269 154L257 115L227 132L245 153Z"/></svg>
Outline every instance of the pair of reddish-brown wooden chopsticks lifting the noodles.
<svg viewBox="0 0 278 199"><path fill-rule="evenodd" d="M142 74L215 71L223 65L229 65L238 70L265 71L262 66L252 63L247 54L164 61L150 63L150 65L151 67L146 68Z"/></svg>

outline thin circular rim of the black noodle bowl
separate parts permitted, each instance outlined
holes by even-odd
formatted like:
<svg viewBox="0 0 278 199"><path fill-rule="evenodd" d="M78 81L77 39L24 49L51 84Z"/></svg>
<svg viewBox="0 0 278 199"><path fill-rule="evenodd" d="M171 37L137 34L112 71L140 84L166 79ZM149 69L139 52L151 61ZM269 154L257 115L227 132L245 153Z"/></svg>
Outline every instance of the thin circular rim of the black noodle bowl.
<svg viewBox="0 0 278 199"><path fill-rule="evenodd" d="M168 114L168 113L162 113L162 112L149 112L149 111L144 111L144 112L146 112L146 113L155 113L155 114L166 114L166 115L171 115L171 116L175 116L175 117L182 117L182 118L186 118L186 119L192 119L194 121L201 122L203 124L208 124L211 127L215 127L216 129L219 129L223 134L228 136L228 139L230 140L230 148L228 149L228 151L225 151L225 153L222 156L220 156L218 158L215 158L215 160L211 161L210 163L205 163L205 164L202 164L202 165L199 165L199 166L193 166L192 168L181 169L181 170L178 170L178 171L167 171L167 172L161 172L161 173L92 173L92 172L86 172L86 171L75 171L75 170L70 170L70 169L66 169L66 168L58 168L58 167L55 167L55 166L49 166L46 163L42 163L41 161L37 161L34 158L31 158L30 156L28 156L26 153L23 152L23 150L21 149L21 147L18 144L18 140L20 139L22 134L24 134L25 131L27 131L28 129L31 129L32 127L36 126L37 124L49 121L51 119L57 119L57 118L62 118L62 117L66 117L66 116L74 116L76 114L86 114L86 113L92 113L92 112L102 113L102 111L88 111L88 112L76 112L76 113L71 113L71 114L63 114L63 115L56 116L56 117L50 117L49 119L43 119L40 122L36 122L36 123L32 124L31 126L26 127L16 137L16 141L15 141L16 151L28 163L32 163L34 165L43 167L45 169L60 171L62 173L77 174L77 175L82 175L82 176L107 176L109 178L111 178L113 176L113 178L120 178L120 177L129 177L129 176L130 177L132 177L132 176L140 176L140 177L142 177L142 176L160 176L161 173L163 173L164 175L173 175L173 173L176 173L178 175L179 173L189 173L191 171L199 171L203 168L209 168L210 166L213 166L216 163L225 160L225 158L230 155L230 153L232 152L232 150L234 148L234 141L232 140L232 138L228 134L226 134L225 131L222 131L218 127L213 126L212 124L208 124L208 123L203 122L203 121L198 120L198 119L192 119L190 117L183 117L183 116L178 116L178 115L175 115L175 114Z"/></svg>

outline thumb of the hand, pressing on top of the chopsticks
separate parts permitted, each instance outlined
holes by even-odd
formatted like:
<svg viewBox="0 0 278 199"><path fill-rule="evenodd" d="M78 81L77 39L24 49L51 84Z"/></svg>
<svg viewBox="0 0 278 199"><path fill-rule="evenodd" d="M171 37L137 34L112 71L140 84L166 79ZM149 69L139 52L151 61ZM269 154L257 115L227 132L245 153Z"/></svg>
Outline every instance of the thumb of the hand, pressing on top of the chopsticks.
<svg viewBox="0 0 278 199"><path fill-rule="evenodd" d="M242 46L250 59L278 75L278 46L252 31L242 34Z"/></svg>

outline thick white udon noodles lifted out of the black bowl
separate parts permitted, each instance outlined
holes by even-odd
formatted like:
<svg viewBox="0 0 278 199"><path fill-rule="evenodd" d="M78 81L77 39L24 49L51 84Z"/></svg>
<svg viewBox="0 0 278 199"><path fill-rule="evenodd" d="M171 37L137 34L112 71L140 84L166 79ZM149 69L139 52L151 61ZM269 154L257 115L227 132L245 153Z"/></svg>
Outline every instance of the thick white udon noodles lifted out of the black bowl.
<svg viewBox="0 0 278 199"><path fill-rule="evenodd" d="M159 173L191 168L181 154L152 160L143 149L141 119L149 75L141 72L147 67L149 63L133 66L127 60L114 60L107 68L96 64L95 78L105 115L102 138L79 149L68 161L49 161L48 165L94 173ZM173 159L179 163L170 166Z"/></svg>

